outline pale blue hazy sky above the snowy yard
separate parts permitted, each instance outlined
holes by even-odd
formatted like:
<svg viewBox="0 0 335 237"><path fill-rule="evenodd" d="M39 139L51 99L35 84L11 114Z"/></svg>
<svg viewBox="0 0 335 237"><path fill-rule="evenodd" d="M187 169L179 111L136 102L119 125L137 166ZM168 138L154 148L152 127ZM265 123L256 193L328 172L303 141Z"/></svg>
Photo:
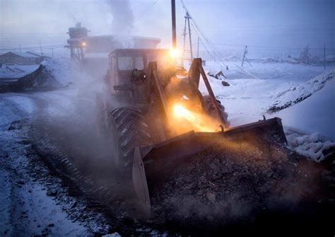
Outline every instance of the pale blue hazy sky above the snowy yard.
<svg viewBox="0 0 335 237"><path fill-rule="evenodd" d="M193 20L217 50L242 54L298 54L309 45L315 54L335 48L334 1L184 0ZM0 47L43 47L66 44L66 32L81 21L90 35L117 34L160 37L171 45L171 8L167 0L1 0ZM182 47L185 10L176 1L177 40ZM197 33L192 28L196 49ZM204 40L202 40L204 41ZM200 43L206 52L206 42ZM60 47L59 47L59 50ZM329 51L330 50L330 51ZM47 50L46 50L47 51Z"/></svg>

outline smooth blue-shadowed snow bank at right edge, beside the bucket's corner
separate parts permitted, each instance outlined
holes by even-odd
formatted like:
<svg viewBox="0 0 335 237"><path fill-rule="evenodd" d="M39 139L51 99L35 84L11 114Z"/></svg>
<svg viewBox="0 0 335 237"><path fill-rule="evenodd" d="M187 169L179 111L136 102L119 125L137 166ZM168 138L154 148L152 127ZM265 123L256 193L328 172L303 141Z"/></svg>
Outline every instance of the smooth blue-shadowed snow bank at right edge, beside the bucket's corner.
<svg viewBox="0 0 335 237"><path fill-rule="evenodd" d="M324 75L326 79L327 75L330 74ZM315 161L322 161L335 151L335 80L322 85L305 100L275 114L288 127L288 144Z"/></svg>

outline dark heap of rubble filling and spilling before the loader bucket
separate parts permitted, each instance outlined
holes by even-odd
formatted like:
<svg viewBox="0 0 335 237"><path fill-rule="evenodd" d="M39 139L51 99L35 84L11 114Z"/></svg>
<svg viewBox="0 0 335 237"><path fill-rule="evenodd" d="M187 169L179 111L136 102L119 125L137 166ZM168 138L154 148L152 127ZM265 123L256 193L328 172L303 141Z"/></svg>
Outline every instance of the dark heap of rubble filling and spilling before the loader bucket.
<svg viewBox="0 0 335 237"><path fill-rule="evenodd" d="M213 230L249 223L272 209L328 202L329 196L321 195L322 170L284 147L266 151L247 143L220 144L190 157L154 190L153 219Z"/></svg>

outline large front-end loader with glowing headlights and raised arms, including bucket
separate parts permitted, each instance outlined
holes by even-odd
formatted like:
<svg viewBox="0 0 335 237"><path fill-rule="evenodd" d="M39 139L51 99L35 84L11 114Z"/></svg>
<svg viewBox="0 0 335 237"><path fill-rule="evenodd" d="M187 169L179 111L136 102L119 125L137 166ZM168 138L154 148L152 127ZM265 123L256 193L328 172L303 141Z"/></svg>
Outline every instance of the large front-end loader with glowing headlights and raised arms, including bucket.
<svg viewBox="0 0 335 237"><path fill-rule="evenodd" d="M188 71L176 67L165 49L119 49L109 59L97 94L98 132L108 138L114 166L144 216L150 216L157 185L215 142L287 142L278 117L230 127L201 58L193 59ZM201 83L206 92L199 91Z"/></svg>

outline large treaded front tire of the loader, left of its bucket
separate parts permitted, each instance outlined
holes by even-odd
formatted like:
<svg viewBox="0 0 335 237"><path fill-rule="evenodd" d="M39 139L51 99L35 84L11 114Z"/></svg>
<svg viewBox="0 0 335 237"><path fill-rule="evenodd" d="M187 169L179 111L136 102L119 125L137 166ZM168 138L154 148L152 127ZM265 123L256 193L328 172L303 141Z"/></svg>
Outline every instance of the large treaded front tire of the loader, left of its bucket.
<svg viewBox="0 0 335 237"><path fill-rule="evenodd" d="M141 110L130 107L114 109L110 112L108 127L116 168L131 168L135 148L151 144L148 125Z"/></svg>

